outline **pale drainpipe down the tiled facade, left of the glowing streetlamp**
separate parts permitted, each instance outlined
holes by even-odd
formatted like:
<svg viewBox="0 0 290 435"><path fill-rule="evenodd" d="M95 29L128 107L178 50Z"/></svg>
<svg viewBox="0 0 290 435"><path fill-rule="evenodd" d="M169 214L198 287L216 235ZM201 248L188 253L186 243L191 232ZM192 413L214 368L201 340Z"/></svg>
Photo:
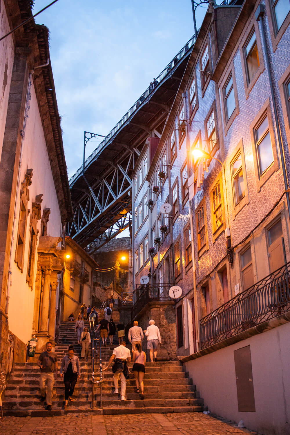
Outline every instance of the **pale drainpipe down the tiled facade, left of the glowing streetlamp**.
<svg viewBox="0 0 290 435"><path fill-rule="evenodd" d="M186 100L185 100L185 93L183 92L183 106L184 106L184 113L186 114ZM189 163L189 170L190 175L193 173L192 168L192 159L190 158L190 140L189 140L189 133L188 133L188 127L187 122L185 123L185 138L186 138L186 149L187 149L187 157L188 157L188 163ZM188 179L188 178L187 178ZM195 275L195 255L194 255L194 241L193 241L193 218L192 218L192 200L189 199L189 218L190 218L190 234L191 234L191 257L192 257L192 271L193 271L193 300L194 300L194 307L192 307L192 311L194 314L194 321L195 321L195 343L193 343L193 351L198 352L199 351L199 343L200 343L200 328L199 328L199 321L198 321L198 309L197 309L197 286L196 286L196 275ZM194 337L193 337L194 339Z"/></svg>

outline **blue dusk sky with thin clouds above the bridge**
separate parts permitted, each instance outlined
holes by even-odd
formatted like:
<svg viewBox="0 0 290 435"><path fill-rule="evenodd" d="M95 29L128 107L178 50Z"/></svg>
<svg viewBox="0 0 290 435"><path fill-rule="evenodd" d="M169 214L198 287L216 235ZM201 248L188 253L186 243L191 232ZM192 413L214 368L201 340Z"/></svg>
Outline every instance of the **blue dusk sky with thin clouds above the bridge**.
<svg viewBox="0 0 290 435"><path fill-rule="evenodd" d="M33 13L49 3L35 0ZM83 132L107 135L192 37L191 0L59 0L35 20L50 30L70 178L83 163ZM88 142L86 157L99 143Z"/></svg>

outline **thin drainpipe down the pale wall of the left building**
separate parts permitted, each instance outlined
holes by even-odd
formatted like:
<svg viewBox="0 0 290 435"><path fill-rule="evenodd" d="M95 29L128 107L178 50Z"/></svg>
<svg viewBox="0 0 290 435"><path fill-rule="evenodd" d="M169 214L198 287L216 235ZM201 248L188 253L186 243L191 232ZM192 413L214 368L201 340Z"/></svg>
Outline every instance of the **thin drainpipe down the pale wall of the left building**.
<svg viewBox="0 0 290 435"><path fill-rule="evenodd" d="M22 157L23 157L23 141L25 136L25 127L26 127L26 120L28 118L28 110L29 110L29 103L30 103L30 88L31 88L31 80L32 80L32 74L29 74L28 77L28 85L27 85L27 94L26 94L26 106L25 106L25 112L24 112L24 120L23 120L23 128L22 128L22 138L21 138L21 145L20 145L20 157L19 157L19 166L18 166L18 174L17 174L17 184L16 184L16 198L14 203L14 218L13 218L13 227L12 227L12 240L10 244L10 256L9 256L9 271L8 271L8 280L7 280L7 290L6 290L6 304L5 304L5 314L8 314L8 308L9 308L9 299L10 299L10 287L12 285L11 280L11 264L12 264L12 257L13 257L13 242L14 242L14 234L15 234L15 226L16 226L16 219L17 219L17 211L18 211L18 196L19 196L19 179L20 179L20 172L22 167Z"/></svg>

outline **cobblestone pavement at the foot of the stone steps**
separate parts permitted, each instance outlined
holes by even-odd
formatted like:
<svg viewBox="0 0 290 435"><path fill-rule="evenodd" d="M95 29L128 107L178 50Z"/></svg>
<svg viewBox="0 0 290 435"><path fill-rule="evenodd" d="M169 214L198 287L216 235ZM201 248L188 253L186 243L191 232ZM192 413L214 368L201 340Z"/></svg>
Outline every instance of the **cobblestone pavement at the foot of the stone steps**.
<svg viewBox="0 0 290 435"><path fill-rule="evenodd" d="M256 434L197 412L129 415L62 415L55 417L4 417L3 435L229 435Z"/></svg>

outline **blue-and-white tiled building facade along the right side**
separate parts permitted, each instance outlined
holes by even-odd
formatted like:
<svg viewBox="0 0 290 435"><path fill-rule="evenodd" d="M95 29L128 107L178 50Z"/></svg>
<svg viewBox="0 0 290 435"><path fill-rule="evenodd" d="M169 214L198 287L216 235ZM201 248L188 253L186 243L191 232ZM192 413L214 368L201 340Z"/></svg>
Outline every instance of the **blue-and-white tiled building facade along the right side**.
<svg viewBox="0 0 290 435"><path fill-rule="evenodd" d="M151 288L159 284L160 301L164 284L180 286L177 355L210 410L281 434L289 432L283 391L290 379L282 368L290 294L286 282L279 296L274 276L290 261L289 22L289 2L210 3L161 137L152 132L133 182L135 301L146 291L141 276L149 275ZM209 156L193 157L193 148ZM172 206L168 214L160 212L164 203ZM256 290L266 288L259 282L269 274L263 282L272 283L272 296L262 318L255 316L262 312ZM247 291L255 302L243 305L241 329L231 329L245 312L229 310ZM222 312L234 314L210 323ZM210 341L214 334L222 338Z"/></svg>

